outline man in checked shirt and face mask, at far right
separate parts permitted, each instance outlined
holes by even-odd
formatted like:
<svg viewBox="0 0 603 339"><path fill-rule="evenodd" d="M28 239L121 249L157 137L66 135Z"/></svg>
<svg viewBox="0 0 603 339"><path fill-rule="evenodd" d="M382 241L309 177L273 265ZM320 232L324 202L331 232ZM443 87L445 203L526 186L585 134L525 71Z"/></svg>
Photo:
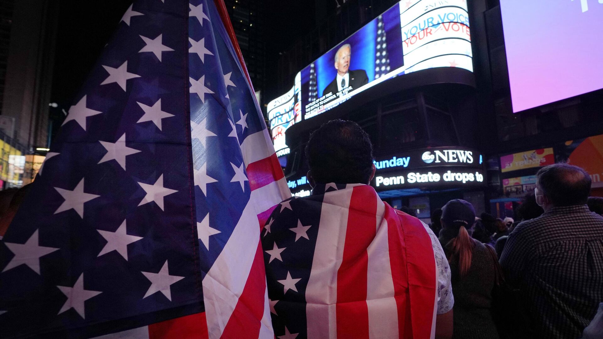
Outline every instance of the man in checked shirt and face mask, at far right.
<svg viewBox="0 0 603 339"><path fill-rule="evenodd" d="M500 256L529 323L528 338L579 338L603 300L603 217L587 206L591 179L566 163L537 173L545 213L511 232Z"/></svg>

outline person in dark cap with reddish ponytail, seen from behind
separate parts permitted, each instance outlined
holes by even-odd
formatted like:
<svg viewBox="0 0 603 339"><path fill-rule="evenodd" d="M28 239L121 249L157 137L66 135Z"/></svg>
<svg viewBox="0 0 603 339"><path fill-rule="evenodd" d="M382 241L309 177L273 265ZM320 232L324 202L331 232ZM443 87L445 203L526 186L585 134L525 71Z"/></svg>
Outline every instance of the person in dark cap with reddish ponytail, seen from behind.
<svg viewBox="0 0 603 339"><path fill-rule="evenodd" d="M461 199L442 208L440 242L452 273L452 338L497 339L492 317L492 290L496 284L496 262L485 244L471 238L475 209Z"/></svg>

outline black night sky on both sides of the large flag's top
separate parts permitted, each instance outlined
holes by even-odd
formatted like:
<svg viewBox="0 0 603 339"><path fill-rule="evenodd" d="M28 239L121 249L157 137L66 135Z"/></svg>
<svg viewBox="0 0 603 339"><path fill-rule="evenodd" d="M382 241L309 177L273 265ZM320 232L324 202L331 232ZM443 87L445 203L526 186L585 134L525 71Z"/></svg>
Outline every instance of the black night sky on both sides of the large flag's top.
<svg viewBox="0 0 603 339"><path fill-rule="evenodd" d="M314 0L255 0L266 5L267 76L279 51L314 25ZM60 0L51 100L66 110L118 27L128 0ZM271 65L274 65L271 69ZM269 79L269 78L268 78Z"/></svg>

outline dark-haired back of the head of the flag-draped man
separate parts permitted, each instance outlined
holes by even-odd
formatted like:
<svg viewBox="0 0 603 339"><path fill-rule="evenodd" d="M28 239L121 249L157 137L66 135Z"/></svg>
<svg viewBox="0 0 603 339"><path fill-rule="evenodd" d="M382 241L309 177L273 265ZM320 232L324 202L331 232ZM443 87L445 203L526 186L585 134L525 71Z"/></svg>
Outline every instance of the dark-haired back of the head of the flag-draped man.
<svg viewBox="0 0 603 339"><path fill-rule="evenodd" d="M331 120L310 135L306 159L316 183L368 183L373 144L356 122Z"/></svg>

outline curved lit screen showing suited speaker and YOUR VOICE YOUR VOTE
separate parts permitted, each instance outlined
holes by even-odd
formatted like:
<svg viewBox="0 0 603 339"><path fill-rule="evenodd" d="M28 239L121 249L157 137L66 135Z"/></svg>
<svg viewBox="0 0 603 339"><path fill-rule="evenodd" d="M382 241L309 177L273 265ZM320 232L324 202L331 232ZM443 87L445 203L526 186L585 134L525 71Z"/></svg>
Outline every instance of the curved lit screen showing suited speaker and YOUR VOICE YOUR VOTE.
<svg viewBox="0 0 603 339"><path fill-rule="evenodd" d="M391 78L437 67L473 71L466 0L400 1L298 72L292 90L268 105L274 147L287 148L285 131L298 119Z"/></svg>

